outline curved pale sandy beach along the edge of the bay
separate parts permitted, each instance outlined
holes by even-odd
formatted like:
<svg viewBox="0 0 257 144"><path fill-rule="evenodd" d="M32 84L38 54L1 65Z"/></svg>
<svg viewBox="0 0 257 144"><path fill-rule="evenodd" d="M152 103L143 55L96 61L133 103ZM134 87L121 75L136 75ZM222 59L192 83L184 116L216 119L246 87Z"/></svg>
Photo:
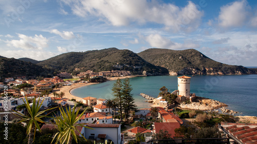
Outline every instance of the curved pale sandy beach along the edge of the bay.
<svg viewBox="0 0 257 144"><path fill-rule="evenodd" d="M131 77L135 77L133 75L131 76L122 76L122 77L111 77L111 78L107 78L107 80L117 80L118 78L119 79L124 79L124 78L131 78ZM59 87L57 89L53 89L52 92L56 92L56 93L60 93L60 92L64 92L65 95L63 98L67 98L67 99L76 99L76 101L80 101L82 100L81 97L78 97L78 96L74 96L70 93L71 90L73 89L76 89L76 88L80 88L80 87L83 87L83 86L89 86L89 85L94 85L94 84L98 84L98 83L75 83L75 84L72 84L71 86L62 86L62 87ZM53 97L53 94L49 94L49 96Z"/></svg>

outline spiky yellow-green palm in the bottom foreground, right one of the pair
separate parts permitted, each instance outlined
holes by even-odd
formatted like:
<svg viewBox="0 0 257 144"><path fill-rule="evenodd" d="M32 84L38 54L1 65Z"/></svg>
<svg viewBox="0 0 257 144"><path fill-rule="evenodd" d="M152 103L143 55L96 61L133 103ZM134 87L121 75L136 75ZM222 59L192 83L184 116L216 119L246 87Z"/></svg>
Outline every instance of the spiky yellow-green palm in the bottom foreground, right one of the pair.
<svg viewBox="0 0 257 144"><path fill-rule="evenodd" d="M53 139L57 137L56 143L60 142L68 144L71 143L72 138L74 138L74 140L78 143L75 132L78 131L80 133L80 131L77 129L77 126L88 128L86 126L83 126L82 124L76 124L83 116L85 110L79 115L80 109L78 109L76 113L75 109L72 109L71 111L70 107L69 109L67 109L66 107L65 110L62 107L59 109L62 116L57 116L54 118L59 132L54 135ZM85 139L84 136L83 138Z"/></svg>

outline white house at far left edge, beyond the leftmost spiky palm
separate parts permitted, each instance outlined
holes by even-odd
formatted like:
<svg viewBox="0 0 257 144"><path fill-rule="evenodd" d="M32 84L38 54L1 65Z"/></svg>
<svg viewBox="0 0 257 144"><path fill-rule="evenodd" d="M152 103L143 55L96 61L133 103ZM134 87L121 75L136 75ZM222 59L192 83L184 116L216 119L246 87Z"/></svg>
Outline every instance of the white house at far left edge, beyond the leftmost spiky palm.
<svg viewBox="0 0 257 144"><path fill-rule="evenodd" d="M17 106L24 104L22 99L26 102L25 98L9 98L7 102L4 99L0 100L0 111L5 110L5 104L8 106L8 111L11 111L11 109L16 111Z"/></svg>

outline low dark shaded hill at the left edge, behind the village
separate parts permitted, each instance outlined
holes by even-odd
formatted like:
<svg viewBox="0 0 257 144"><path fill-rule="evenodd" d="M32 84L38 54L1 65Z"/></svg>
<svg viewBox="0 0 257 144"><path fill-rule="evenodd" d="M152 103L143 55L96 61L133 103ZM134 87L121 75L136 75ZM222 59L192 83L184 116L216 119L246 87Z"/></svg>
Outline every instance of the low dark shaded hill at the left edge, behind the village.
<svg viewBox="0 0 257 144"><path fill-rule="evenodd" d="M16 76L52 76L53 71L44 69L42 66L15 58L0 58L0 77Z"/></svg>

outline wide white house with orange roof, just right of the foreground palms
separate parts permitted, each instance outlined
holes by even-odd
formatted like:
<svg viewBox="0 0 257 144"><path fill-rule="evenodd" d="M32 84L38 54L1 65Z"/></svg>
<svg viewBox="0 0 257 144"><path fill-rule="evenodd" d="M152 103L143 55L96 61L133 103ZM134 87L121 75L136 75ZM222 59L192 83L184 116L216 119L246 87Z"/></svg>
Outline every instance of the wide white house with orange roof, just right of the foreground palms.
<svg viewBox="0 0 257 144"><path fill-rule="evenodd" d="M113 124L113 117L106 116L105 112L86 113L78 121L79 124Z"/></svg>

